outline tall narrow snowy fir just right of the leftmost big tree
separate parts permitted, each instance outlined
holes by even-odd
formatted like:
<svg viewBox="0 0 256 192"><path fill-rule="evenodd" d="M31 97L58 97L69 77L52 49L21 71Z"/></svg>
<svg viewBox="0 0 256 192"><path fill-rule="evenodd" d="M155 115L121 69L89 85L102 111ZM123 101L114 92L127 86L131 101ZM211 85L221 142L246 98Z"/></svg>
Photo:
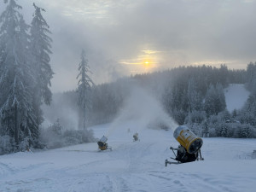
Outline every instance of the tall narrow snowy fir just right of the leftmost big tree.
<svg viewBox="0 0 256 192"><path fill-rule="evenodd" d="M54 73L49 65L52 39L48 35L51 32L49 32L49 26L41 14L41 11L45 10L36 6L35 3L33 3L33 6L36 9L30 31L32 68L35 74L33 104L37 122L40 125L43 121L40 106L43 102L48 105L51 102L52 93L49 90L49 86L51 85L50 79L53 78Z"/></svg>

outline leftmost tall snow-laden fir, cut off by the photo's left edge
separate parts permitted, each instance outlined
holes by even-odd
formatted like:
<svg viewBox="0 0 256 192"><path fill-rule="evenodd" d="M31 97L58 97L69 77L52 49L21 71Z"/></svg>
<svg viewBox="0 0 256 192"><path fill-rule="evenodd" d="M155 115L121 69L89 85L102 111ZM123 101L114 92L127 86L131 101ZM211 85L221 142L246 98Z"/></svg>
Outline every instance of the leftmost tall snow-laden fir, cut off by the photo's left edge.
<svg viewBox="0 0 256 192"><path fill-rule="evenodd" d="M5 1L8 3L8 1ZM31 61L28 52L28 27L15 0L0 16L0 120L2 134L15 138L16 148L24 140L30 144L38 137L32 108Z"/></svg>

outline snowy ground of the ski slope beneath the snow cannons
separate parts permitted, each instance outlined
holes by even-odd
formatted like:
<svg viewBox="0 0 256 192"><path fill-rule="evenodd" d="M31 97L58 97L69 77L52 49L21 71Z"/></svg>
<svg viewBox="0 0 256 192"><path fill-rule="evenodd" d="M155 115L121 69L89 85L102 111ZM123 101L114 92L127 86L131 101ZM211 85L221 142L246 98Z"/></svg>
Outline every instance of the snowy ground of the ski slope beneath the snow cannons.
<svg viewBox="0 0 256 192"><path fill-rule="evenodd" d="M0 191L255 191L256 160L249 154L256 139L204 138L204 161L166 167L169 147L177 147L172 131L144 129L132 142L131 125L108 137L113 151L86 143L0 156ZM109 126L94 127L96 137Z"/></svg>

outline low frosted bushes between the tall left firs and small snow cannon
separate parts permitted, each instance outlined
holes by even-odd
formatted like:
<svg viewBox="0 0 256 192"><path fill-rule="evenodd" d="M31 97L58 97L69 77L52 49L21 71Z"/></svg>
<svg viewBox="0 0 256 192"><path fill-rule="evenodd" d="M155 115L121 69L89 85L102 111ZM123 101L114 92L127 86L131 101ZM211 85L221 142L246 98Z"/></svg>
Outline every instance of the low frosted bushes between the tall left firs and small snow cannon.
<svg viewBox="0 0 256 192"><path fill-rule="evenodd" d="M46 148L61 148L79 143L96 142L91 130L64 129L59 120L40 131L39 142Z"/></svg>

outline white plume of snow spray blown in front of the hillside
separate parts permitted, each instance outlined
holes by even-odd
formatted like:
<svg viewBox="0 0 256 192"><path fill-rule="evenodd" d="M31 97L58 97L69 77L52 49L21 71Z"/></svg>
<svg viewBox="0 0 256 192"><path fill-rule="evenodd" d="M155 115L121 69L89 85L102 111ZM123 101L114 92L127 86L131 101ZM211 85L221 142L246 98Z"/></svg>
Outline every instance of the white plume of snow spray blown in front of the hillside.
<svg viewBox="0 0 256 192"><path fill-rule="evenodd" d="M166 128L173 131L177 127L177 123L164 111L160 102L146 90L138 87L131 90L131 96L126 100L119 116L110 125L106 137L119 127L124 128L129 122L137 126L137 132L145 128Z"/></svg>

